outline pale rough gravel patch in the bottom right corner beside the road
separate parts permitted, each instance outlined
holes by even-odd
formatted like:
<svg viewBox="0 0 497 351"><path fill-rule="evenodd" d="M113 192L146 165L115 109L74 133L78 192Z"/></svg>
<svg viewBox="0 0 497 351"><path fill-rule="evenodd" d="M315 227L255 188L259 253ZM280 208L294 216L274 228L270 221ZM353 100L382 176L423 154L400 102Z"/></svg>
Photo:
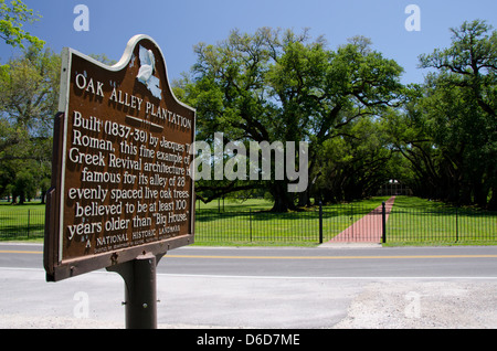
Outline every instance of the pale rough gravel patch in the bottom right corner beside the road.
<svg viewBox="0 0 497 351"><path fill-rule="evenodd" d="M495 329L496 281L378 281L336 329Z"/></svg>

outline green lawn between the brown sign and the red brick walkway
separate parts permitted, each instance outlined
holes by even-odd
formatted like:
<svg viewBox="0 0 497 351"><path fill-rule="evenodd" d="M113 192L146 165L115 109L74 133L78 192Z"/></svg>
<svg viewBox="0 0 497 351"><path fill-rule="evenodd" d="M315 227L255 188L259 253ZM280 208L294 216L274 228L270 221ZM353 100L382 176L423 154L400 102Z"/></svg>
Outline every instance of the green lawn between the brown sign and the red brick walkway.
<svg viewBox="0 0 497 351"><path fill-rule="evenodd" d="M388 198L322 206L324 242L381 205ZM272 213L264 200L225 200L197 204L197 245L305 245L319 244L318 206L298 212Z"/></svg>

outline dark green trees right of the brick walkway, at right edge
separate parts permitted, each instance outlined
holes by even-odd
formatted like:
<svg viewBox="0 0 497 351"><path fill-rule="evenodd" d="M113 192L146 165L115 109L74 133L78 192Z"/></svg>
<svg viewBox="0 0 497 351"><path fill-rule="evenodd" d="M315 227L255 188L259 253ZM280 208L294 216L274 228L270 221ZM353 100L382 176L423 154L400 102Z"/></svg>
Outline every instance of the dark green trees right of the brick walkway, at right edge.
<svg viewBox="0 0 497 351"><path fill-rule="evenodd" d="M497 209L497 31L465 22L452 45L420 57L434 68L385 118L415 193Z"/></svg>

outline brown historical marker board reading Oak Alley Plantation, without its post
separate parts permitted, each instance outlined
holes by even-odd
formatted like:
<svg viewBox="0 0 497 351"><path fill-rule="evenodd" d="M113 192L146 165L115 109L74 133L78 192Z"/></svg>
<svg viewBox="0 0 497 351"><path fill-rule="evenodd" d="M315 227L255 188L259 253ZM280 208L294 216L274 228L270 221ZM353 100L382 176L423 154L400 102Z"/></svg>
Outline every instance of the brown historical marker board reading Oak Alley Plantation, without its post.
<svg viewBox="0 0 497 351"><path fill-rule="evenodd" d="M47 280L193 243L195 111L172 94L154 40L134 36L114 66L65 49L60 110Z"/></svg>

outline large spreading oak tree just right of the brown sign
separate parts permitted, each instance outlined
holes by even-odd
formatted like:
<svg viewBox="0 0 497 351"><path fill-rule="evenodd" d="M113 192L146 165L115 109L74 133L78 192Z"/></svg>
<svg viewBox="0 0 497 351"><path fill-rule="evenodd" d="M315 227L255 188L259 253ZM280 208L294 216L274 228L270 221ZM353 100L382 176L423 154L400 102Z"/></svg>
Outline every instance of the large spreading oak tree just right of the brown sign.
<svg viewBox="0 0 497 351"><path fill-rule="evenodd" d="M361 116L379 114L402 91L402 68L360 36L334 51L308 31L262 28L254 34L233 31L215 45L201 43L195 53L182 94L198 110L198 139L212 140L222 131L226 142L308 141L309 174L318 173L316 156L327 139ZM313 182L299 199L288 193L287 183L252 187L271 192L274 211L295 209L297 201L308 204ZM214 194L215 189L240 188L219 182L198 188Z"/></svg>

